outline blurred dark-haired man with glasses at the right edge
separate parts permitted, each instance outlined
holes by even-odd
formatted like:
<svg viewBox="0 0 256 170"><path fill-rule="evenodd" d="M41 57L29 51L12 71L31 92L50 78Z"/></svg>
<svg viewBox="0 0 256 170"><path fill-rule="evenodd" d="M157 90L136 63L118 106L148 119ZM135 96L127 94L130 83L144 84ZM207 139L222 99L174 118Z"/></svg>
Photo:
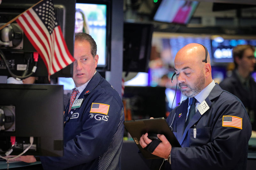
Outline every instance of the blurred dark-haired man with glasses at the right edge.
<svg viewBox="0 0 256 170"><path fill-rule="evenodd" d="M233 48L235 70L220 83L223 90L242 101L252 122L252 130L256 130L256 82L251 76L256 63L254 52L255 47L251 45L238 45Z"/></svg>

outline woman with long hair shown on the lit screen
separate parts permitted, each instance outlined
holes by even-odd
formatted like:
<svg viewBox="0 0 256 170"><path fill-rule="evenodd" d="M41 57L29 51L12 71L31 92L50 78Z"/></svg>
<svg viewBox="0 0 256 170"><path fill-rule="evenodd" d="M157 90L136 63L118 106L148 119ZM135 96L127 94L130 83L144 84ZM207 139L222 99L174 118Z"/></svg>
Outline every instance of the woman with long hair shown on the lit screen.
<svg viewBox="0 0 256 170"><path fill-rule="evenodd" d="M84 14L84 12L76 8L76 15L75 15L75 33L88 33L89 34L89 25L88 20Z"/></svg>

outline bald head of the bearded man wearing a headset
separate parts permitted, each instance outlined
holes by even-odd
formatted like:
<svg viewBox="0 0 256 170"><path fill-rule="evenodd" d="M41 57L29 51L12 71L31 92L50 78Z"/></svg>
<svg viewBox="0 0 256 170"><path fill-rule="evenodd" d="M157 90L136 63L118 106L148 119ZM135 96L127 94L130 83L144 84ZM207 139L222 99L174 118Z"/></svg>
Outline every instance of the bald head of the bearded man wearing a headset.
<svg viewBox="0 0 256 170"><path fill-rule="evenodd" d="M183 95L194 97L212 82L210 55L201 44L191 43L181 48L175 56L174 70Z"/></svg>

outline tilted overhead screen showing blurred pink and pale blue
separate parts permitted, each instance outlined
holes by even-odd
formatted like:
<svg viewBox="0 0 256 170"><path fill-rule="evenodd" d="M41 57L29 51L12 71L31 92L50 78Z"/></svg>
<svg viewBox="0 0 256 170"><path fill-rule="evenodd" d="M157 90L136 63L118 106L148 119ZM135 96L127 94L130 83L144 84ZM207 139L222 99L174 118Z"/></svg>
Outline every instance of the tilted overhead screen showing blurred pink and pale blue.
<svg viewBox="0 0 256 170"><path fill-rule="evenodd" d="M162 0L153 19L160 22L187 24L197 4L197 1Z"/></svg>

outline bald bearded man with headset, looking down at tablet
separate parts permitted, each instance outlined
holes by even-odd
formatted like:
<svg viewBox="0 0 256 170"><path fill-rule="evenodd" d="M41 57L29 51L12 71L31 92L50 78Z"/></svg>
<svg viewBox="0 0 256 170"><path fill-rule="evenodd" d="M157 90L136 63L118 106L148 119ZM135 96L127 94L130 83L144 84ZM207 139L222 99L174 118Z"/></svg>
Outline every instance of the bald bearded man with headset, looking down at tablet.
<svg viewBox="0 0 256 170"><path fill-rule="evenodd" d="M188 98L166 119L181 147L172 147L157 134L162 142L152 154L164 158L161 169L246 169L251 122L242 102L212 80L204 46L191 43L181 48L174 70L180 91ZM148 133L140 138L143 148L151 142Z"/></svg>

